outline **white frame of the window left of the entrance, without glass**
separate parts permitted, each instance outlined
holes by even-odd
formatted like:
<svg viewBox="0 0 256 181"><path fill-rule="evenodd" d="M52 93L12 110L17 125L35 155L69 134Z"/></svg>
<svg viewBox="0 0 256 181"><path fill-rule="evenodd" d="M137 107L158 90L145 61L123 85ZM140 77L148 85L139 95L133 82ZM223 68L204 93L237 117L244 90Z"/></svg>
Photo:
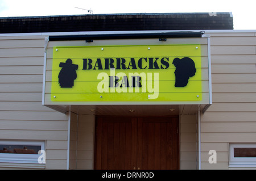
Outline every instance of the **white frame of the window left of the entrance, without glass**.
<svg viewBox="0 0 256 181"><path fill-rule="evenodd" d="M0 145L30 145L41 146L45 150L44 141L0 141ZM39 163L40 154L0 153L0 163Z"/></svg>

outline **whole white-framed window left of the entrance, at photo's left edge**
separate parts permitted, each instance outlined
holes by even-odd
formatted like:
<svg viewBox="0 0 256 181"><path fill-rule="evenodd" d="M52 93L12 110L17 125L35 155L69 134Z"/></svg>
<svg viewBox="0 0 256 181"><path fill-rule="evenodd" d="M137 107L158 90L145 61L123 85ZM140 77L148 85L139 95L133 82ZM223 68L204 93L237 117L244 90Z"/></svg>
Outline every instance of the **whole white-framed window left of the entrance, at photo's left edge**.
<svg viewBox="0 0 256 181"><path fill-rule="evenodd" d="M39 163L43 141L0 141L0 162Z"/></svg>

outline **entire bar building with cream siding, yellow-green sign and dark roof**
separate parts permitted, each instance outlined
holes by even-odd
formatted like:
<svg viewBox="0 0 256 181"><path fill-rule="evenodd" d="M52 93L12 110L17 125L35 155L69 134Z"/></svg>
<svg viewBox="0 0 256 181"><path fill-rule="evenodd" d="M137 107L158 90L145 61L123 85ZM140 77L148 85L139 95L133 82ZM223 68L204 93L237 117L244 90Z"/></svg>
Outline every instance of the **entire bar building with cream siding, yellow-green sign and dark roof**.
<svg viewBox="0 0 256 181"><path fill-rule="evenodd" d="M190 16L199 15L203 22ZM255 169L255 31L182 23L53 31L38 19L28 31L17 19L1 19L1 169ZM196 71L179 85L176 61L184 57ZM60 75L71 67L72 80ZM137 71L127 86L125 75Z"/></svg>

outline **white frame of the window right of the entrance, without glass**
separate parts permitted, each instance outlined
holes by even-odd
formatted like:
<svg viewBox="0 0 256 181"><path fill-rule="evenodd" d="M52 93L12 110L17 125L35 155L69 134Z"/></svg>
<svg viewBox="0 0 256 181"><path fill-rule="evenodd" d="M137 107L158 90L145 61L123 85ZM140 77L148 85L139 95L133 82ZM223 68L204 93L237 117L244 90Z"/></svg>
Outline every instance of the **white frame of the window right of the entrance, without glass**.
<svg viewBox="0 0 256 181"><path fill-rule="evenodd" d="M234 157L234 148L256 148L256 143L229 144L229 167L256 167L256 157Z"/></svg>

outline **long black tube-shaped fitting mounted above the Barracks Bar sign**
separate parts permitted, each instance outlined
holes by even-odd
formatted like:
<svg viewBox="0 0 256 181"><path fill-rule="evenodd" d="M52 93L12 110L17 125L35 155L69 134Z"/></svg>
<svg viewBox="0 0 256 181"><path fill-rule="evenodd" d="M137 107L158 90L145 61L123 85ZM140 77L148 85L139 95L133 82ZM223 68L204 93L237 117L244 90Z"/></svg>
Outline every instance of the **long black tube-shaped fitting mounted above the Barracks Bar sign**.
<svg viewBox="0 0 256 181"><path fill-rule="evenodd" d="M60 35L49 36L49 41L68 41L68 40L112 40L112 39L166 39L180 37L201 37L204 31L199 32L162 32L162 33L116 33L116 34L97 34L97 35Z"/></svg>

